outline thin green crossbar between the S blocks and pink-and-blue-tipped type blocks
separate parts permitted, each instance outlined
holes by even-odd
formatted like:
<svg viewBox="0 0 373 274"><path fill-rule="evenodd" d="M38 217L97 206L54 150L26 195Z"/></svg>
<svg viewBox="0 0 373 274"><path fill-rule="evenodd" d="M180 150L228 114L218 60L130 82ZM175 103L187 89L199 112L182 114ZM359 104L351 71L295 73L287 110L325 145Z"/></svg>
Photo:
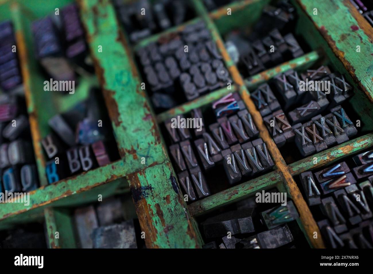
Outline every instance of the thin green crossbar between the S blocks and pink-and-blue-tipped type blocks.
<svg viewBox="0 0 373 274"><path fill-rule="evenodd" d="M220 97L226 94L229 94L231 92L235 92L235 91L238 91L238 88L236 85L232 85L231 89L228 89L228 88L217 89L216 91L210 92L192 101L188 101L184 104L178 105L177 107L163 111L162 113L157 115L157 122L162 123L166 121L167 119L174 117L175 115L184 114L184 113L191 111L194 108L203 107L204 105L210 104L213 101L219 99Z"/></svg>

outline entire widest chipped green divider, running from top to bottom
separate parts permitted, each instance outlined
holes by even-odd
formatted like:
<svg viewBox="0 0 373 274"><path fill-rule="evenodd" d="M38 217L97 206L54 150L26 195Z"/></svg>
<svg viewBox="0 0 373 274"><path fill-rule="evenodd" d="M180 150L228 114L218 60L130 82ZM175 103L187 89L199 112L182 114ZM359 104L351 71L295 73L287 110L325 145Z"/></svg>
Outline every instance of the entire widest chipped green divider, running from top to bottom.
<svg viewBox="0 0 373 274"><path fill-rule="evenodd" d="M111 1L79 0L78 4L147 247L200 247L186 204L175 191L176 179L171 180L174 173L155 115ZM98 52L98 46L105 54Z"/></svg>

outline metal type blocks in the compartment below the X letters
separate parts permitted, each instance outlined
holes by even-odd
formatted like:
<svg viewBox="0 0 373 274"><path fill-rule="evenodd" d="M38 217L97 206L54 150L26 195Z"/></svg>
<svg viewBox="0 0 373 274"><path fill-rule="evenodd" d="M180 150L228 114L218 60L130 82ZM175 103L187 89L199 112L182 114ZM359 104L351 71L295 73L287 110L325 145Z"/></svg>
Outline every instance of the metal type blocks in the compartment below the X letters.
<svg viewBox="0 0 373 274"><path fill-rule="evenodd" d="M308 204L326 217L318 225L332 248L373 248L373 151L353 159L352 169L341 162L300 174Z"/></svg>

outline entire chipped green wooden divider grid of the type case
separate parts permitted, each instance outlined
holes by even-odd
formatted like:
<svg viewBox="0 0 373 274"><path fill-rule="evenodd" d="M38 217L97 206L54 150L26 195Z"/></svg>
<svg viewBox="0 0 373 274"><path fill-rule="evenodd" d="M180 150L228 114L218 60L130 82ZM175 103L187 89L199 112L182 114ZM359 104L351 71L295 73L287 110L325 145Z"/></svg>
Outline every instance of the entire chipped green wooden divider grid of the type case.
<svg viewBox="0 0 373 274"><path fill-rule="evenodd" d="M123 28L117 22L111 1L77 0L98 81L95 78L85 79L86 84L82 85L82 92L79 93L81 97L74 97L71 100L71 98L51 95L48 98L53 101L53 107L42 106L46 97L39 91L43 78L37 72L37 63L33 58L30 24L32 20L51 12L51 6L62 7L72 0L50 0L48 5L40 1L35 1L31 5L26 0L4 1L6 3L0 0L0 7L4 8L0 8L0 20L12 19L15 23L33 144L43 186L31 193L29 206L1 205L0 229L8 228L13 224L44 220L51 248L76 247L72 218L68 210L56 207L93 202L98 194L107 197L118 191L127 191L128 188L127 190L123 188L123 185L127 184L132 192L132 199L141 228L145 232L148 248L198 248L203 241L194 216L239 201L258 190L276 187L279 191L288 192L295 201L301 213L298 223L310 240L311 246L323 246L321 239L319 241L310 239L310 233L315 231L314 220L292 176L326 166L373 146L373 133L371 133L373 131L371 117L373 31L361 15L351 8L348 0L294 0L300 14L296 27L297 34L304 37L312 51L245 80L229 58L221 35L232 28L242 27L242 25L248 27L253 24L269 0L235 1L210 13L207 12L202 1L192 0L198 14L195 19L145 38L135 46L135 48L141 47L156 41L162 35L181 30L185 25L204 20L232 76L234 82L232 90L239 91L244 98L254 117L254 122L260 129L260 136L267 143L270 154L276 162L274 171L232 186L188 206L182 199L158 123L174 115L186 113L192 108L207 105L232 90L220 89L156 116L146 92L140 88L142 80L134 62L134 48L129 45ZM227 16L228 7L232 9L233 16ZM315 7L318 9L317 16L313 15ZM340 23L340 20L337 20L339 18L344 18L344 21ZM358 29L356 30L355 27L352 29L352 25L358 26ZM356 52L355 44L361 46L360 53ZM102 52L98 51L98 46L102 47ZM367 134L286 165L253 105L249 91L287 69L306 69L316 62L332 64L339 72L347 75L347 81L352 83L356 91L351 104L355 110L363 109L361 120L364 122L363 132ZM46 186L45 162L40 146L40 139L48 133L46 122L56 111L66 110L74 101L87 96L83 91L87 86L97 82L103 90L121 159L106 167ZM317 164L313 163L314 157L317 157ZM60 235L60 238L53 237L56 232L61 231L65 232Z"/></svg>

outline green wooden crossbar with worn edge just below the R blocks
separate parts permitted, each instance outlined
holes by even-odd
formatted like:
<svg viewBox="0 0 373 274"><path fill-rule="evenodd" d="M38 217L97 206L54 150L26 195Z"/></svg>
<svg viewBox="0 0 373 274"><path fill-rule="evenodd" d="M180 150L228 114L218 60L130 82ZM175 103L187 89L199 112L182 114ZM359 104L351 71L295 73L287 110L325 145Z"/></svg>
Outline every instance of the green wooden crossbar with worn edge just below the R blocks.
<svg viewBox="0 0 373 274"><path fill-rule="evenodd" d="M30 197L29 197L30 206L28 206L28 208L24 208L22 210L17 210L17 211L12 211L12 212L5 213L5 212L2 212L3 210L0 207L0 221L3 221L3 220L5 220L9 217L14 216L14 215L22 214L23 212L26 212L26 211L29 211L29 210L34 210L35 208L38 208L38 207L43 207L45 205L53 205L53 202L59 201L60 199L66 198L66 197L71 196L71 195L76 195L78 193L88 191L88 190L93 189L97 186L101 186L101 185L113 182L116 179L124 178L125 174L122 174L121 166L123 166L123 161L118 160L118 161L110 163L110 164L108 164L104 167L99 167L97 169L92 169L92 170L89 170L89 171L85 171L85 172L80 173L76 176L72 176L72 177L60 180L58 182L52 183L52 184L47 185L47 186L41 186L40 188L30 192ZM115 173L112 170L116 170L118 172ZM101 173L101 172L102 173L109 173L109 171L112 172L112 173L111 173L111 176L108 177L106 180L104 180L104 181L100 180L100 182L94 182L94 183L90 181L90 177L92 176L92 174L94 174L94 173L98 174L98 173ZM59 185L65 184L68 181L70 181L70 182L73 182L73 181L78 182L79 181L79 182L84 182L85 184L82 185L78 190L75 190L74 192L72 192L70 189L68 189L65 192L61 193L57 197L51 198L47 201L38 201L38 200L33 201L35 203L31 205L33 195L43 196L43 192L46 192L47 190L49 190L51 188L51 186L57 187ZM45 193L45 195L47 195L47 193Z"/></svg>

